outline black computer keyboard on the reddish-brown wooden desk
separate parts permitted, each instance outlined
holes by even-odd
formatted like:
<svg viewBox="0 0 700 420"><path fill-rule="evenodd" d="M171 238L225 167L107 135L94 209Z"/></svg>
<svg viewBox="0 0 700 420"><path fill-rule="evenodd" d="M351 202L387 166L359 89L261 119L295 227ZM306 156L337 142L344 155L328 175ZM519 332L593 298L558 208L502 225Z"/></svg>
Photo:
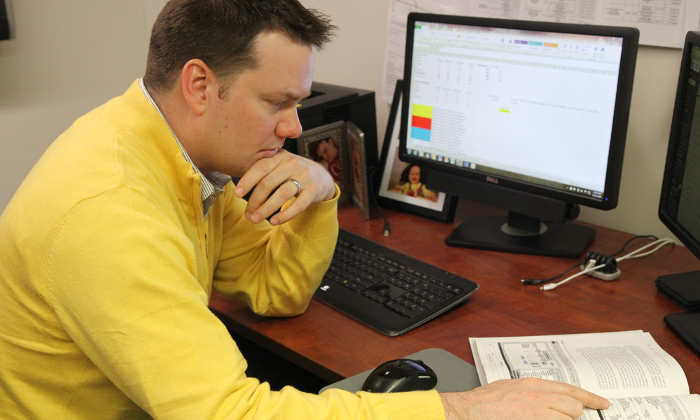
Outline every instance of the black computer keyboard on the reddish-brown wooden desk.
<svg viewBox="0 0 700 420"><path fill-rule="evenodd" d="M385 335L401 335L448 311L479 288L341 229L314 297Z"/></svg>

